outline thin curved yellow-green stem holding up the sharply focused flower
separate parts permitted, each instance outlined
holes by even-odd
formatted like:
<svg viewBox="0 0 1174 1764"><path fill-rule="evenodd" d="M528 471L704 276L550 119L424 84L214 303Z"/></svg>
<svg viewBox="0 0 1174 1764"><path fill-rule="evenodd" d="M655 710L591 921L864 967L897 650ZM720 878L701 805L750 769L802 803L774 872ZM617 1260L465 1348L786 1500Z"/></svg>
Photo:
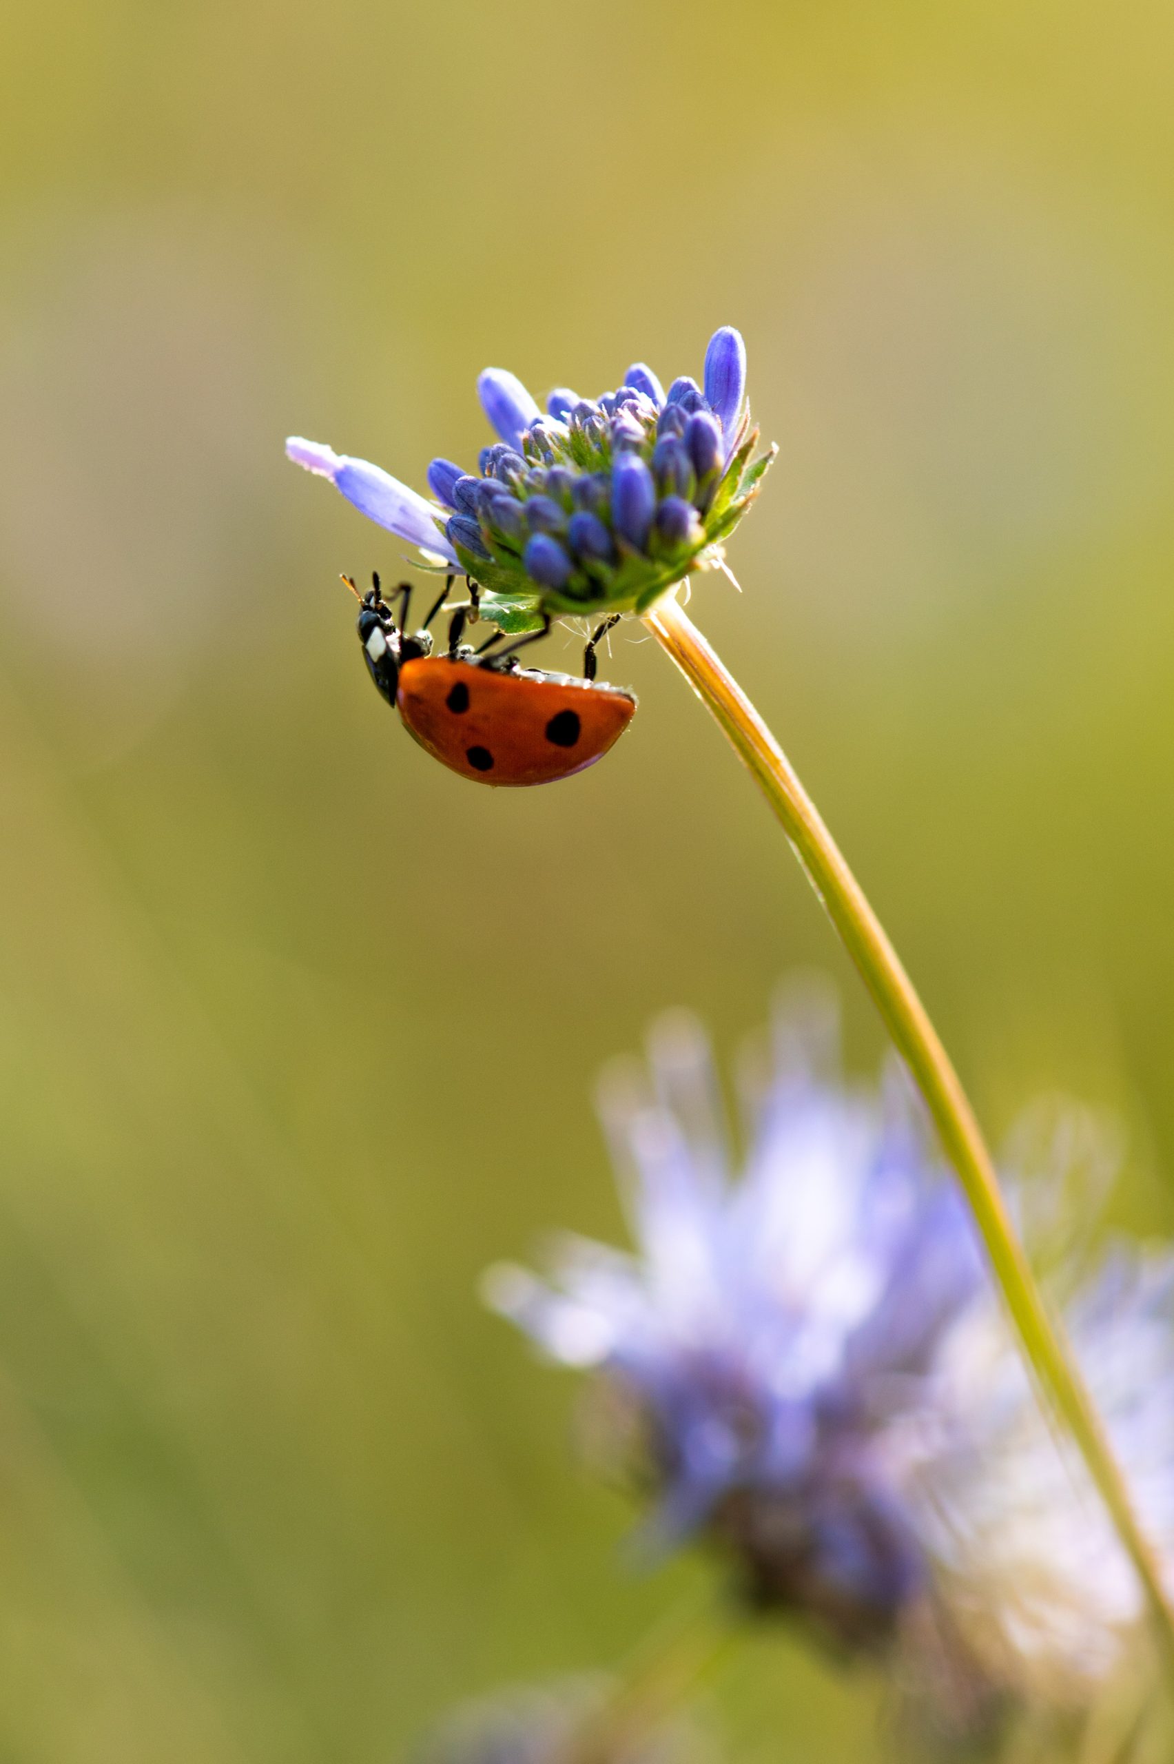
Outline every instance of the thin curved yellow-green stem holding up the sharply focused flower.
<svg viewBox="0 0 1174 1764"><path fill-rule="evenodd" d="M665 596L645 614L643 623L724 730L783 822L791 850L913 1073L970 1201L1028 1362L1063 1416L1100 1489L1142 1582L1167 1663L1174 1671L1174 1614L1167 1603L1158 1565L1137 1522L1125 1478L1072 1349L1058 1321L1049 1314L1015 1237L975 1111L913 983L790 760L677 600Z"/></svg>

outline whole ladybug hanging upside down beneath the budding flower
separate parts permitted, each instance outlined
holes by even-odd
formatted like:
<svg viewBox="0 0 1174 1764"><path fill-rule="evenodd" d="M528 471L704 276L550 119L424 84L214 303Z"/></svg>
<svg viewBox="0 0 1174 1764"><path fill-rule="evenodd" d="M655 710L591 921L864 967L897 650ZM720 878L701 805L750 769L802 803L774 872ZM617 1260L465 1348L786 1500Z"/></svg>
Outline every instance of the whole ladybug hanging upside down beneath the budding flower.
<svg viewBox="0 0 1174 1764"><path fill-rule="evenodd" d="M631 691L596 679L596 646L619 624L619 614L592 635L583 651L583 677L576 679L518 663L518 649L545 637L550 617L541 632L529 632L508 649L497 647L502 632L471 649L460 640L465 609L458 607L448 651L434 654L428 624L448 598L451 577L418 632L407 630L409 582L391 596L400 600L397 624L377 575L367 594L360 594L351 577L342 580L360 602L358 637L379 693L400 713L409 736L462 778L515 787L571 778L601 760L636 713ZM476 609L476 586L469 589Z"/></svg>

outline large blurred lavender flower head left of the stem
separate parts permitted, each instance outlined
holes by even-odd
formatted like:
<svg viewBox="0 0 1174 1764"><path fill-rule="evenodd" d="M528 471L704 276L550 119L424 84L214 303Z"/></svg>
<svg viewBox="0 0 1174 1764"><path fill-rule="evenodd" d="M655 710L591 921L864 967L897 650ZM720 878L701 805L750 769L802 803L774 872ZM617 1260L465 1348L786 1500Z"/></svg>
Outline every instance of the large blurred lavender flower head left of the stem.
<svg viewBox="0 0 1174 1764"><path fill-rule="evenodd" d="M700 1028L661 1021L650 1083L603 1088L636 1256L569 1240L554 1282L506 1267L487 1293L603 1374L654 1492L649 1538L700 1535L754 1605L871 1648L924 1589L903 1441L982 1265L903 1081L839 1083L828 1013L781 1014L737 1182Z"/></svg>

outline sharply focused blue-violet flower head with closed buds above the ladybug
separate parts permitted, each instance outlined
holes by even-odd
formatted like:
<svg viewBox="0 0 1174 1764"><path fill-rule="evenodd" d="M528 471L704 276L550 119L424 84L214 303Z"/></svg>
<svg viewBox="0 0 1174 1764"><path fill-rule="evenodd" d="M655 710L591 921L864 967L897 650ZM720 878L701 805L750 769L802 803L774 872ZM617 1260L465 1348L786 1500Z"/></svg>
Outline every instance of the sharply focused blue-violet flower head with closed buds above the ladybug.
<svg viewBox="0 0 1174 1764"><path fill-rule="evenodd" d="M643 612L719 564L776 453L753 459L746 346L730 326L710 337L702 385L680 377L665 393L638 362L617 392L559 386L541 411L515 374L487 367L478 393L499 441L476 473L434 459L434 499L317 441L291 437L286 452L420 547L427 568L478 582L481 614L508 632L545 614Z"/></svg>

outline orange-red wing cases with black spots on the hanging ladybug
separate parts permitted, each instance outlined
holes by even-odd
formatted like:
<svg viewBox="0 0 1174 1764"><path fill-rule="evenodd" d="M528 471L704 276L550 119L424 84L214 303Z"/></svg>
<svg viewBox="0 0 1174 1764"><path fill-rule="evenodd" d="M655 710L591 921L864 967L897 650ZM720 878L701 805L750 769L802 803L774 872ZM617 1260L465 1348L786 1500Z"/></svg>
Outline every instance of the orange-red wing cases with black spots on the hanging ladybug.
<svg viewBox="0 0 1174 1764"><path fill-rule="evenodd" d="M555 783L594 766L636 711L635 697L606 681L497 670L464 656L402 662L395 702L434 759L499 787Z"/></svg>

